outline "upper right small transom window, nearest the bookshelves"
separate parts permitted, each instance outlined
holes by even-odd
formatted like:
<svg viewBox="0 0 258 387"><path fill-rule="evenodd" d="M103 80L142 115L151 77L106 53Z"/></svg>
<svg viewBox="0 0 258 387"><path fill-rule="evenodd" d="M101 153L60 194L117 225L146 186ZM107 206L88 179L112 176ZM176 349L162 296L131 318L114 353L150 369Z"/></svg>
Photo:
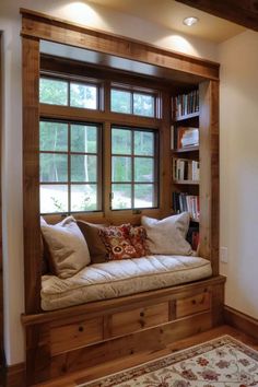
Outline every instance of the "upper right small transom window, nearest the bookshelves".
<svg viewBox="0 0 258 387"><path fill-rule="evenodd" d="M155 105L154 94L112 89L112 112L156 117Z"/></svg>

